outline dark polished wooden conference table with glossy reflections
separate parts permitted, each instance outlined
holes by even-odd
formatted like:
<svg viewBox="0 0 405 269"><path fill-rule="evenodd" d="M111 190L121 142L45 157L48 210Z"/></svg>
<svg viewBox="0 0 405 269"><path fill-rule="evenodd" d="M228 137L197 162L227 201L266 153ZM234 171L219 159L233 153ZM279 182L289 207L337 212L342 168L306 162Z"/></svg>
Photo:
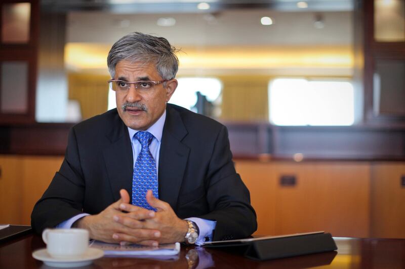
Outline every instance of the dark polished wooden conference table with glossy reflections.
<svg viewBox="0 0 405 269"><path fill-rule="evenodd" d="M255 261L219 249L182 246L175 260L102 257L78 268L405 268L405 239L335 238L337 251L268 261ZM44 248L33 234L0 243L0 268L54 268L31 253ZM321 267L323 268L323 267Z"/></svg>

